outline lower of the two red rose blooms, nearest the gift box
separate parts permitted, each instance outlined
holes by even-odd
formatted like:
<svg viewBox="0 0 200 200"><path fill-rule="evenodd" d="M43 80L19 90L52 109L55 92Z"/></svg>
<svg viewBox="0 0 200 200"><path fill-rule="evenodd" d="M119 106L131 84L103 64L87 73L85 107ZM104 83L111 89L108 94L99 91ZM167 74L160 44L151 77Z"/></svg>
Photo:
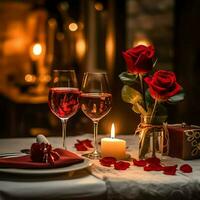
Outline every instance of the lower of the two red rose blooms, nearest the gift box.
<svg viewBox="0 0 200 200"><path fill-rule="evenodd" d="M158 70L153 77L146 77L149 92L154 99L167 100L181 91L181 86L176 82L174 72Z"/></svg>

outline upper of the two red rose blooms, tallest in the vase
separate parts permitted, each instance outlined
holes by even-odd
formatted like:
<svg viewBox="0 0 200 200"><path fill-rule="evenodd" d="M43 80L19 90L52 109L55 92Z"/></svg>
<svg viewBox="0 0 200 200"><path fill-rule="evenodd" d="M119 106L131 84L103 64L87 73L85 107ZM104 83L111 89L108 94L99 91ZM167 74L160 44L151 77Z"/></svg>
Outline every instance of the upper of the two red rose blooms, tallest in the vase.
<svg viewBox="0 0 200 200"><path fill-rule="evenodd" d="M153 46L138 45L125 52L123 57L128 66L128 72L132 74L145 74L153 68L155 50Z"/></svg>

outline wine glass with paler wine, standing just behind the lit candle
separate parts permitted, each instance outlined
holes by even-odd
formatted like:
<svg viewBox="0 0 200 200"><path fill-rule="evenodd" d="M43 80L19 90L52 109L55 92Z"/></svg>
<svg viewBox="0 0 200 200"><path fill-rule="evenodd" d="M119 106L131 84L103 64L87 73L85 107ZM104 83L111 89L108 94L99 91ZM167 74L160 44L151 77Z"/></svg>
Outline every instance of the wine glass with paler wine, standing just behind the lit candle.
<svg viewBox="0 0 200 200"><path fill-rule="evenodd" d="M105 72L84 73L81 87L81 109L94 124L94 151L85 155L91 159L100 158L98 151L98 122L111 109L112 94L109 90L108 77Z"/></svg>

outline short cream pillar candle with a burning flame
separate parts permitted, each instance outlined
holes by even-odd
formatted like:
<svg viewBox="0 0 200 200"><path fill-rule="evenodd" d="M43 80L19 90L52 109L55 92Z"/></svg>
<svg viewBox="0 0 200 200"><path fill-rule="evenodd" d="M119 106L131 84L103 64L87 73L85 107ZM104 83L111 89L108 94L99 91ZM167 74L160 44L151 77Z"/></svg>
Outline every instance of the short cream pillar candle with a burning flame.
<svg viewBox="0 0 200 200"><path fill-rule="evenodd" d="M126 155L126 141L115 138L115 126L111 127L111 138L101 139L101 156L114 157L117 160L122 160Z"/></svg>

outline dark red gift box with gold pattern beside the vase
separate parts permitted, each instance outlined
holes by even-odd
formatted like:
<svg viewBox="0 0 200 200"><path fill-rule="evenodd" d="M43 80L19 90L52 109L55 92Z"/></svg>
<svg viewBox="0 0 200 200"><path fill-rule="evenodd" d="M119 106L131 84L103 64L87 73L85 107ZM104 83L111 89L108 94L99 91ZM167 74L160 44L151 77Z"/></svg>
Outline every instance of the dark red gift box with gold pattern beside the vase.
<svg viewBox="0 0 200 200"><path fill-rule="evenodd" d="M169 156L192 160L200 158L200 127L186 124L168 125Z"/></svg>

